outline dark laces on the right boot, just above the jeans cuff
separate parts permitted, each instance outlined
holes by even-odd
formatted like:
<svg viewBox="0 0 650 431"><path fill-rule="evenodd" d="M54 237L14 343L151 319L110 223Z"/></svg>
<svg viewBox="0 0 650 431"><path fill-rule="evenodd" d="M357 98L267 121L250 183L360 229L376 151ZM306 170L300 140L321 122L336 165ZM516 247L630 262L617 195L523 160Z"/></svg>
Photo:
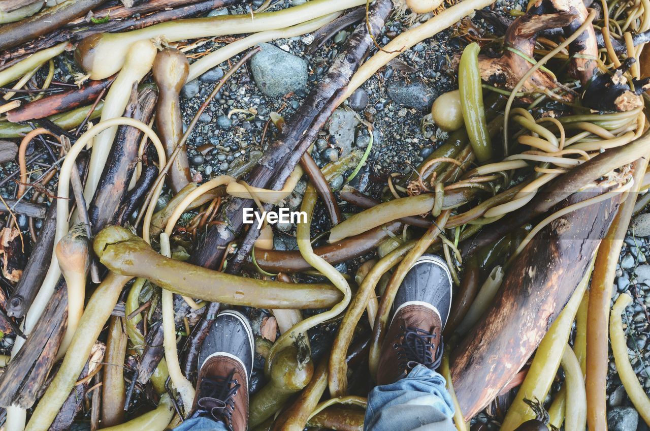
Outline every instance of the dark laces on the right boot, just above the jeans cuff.
<svg viewBox="0 0 650 431"><path fill-rule="evenodd" d="M411 370L418 364L424 365L430 370L435 370L440 366L444 350L442 336L440 336L440 342L435 349L435 355L433 344L437 338L435 333L429 333L418 327L400 326L397 337L402 338L402 341L395 342L393 348L397 350L397 361L401 369Z"/></svg>

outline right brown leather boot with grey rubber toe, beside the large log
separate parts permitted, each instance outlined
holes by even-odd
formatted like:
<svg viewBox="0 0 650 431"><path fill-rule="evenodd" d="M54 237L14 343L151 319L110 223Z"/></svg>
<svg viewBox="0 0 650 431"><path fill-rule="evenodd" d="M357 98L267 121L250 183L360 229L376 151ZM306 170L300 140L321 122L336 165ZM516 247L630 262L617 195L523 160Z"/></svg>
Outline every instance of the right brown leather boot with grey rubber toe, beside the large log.
<svg viewBox="0 0 650 431"><path fill-rule="evenodd" d="M439 367L451 293L451 276L444 260L424 255L415 262L395 295L395 314L377 369L378 385L406 377L416 365L432 370Z"/></svg>

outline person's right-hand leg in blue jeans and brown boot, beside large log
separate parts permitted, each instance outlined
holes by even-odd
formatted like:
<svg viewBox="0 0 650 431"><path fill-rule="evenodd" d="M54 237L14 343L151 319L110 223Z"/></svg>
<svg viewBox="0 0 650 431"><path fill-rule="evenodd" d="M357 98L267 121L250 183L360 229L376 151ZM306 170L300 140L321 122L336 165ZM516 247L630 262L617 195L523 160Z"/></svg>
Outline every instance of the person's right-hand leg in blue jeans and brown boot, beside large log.
<svg viewBox="0 0 650 431"><path fill-rule="evenodd" d="M378 386L370 391L367 431L454 431L454 405L439 367L451 307L447 264L422 256L404 277L382 344Z"/></svg>

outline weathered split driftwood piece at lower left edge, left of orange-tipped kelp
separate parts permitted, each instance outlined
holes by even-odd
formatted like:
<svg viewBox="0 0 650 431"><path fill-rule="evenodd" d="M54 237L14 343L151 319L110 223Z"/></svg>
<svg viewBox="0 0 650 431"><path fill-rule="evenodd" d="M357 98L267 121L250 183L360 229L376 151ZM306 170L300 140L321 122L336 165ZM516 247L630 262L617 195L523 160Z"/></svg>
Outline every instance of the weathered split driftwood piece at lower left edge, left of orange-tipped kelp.
<svg viewBox="0 0 650 431"><path fill-rule="evenodd" d="M16 357L0 375L0 406L29 408L54 365L68 321L68 295L60 286Z"/></svg>

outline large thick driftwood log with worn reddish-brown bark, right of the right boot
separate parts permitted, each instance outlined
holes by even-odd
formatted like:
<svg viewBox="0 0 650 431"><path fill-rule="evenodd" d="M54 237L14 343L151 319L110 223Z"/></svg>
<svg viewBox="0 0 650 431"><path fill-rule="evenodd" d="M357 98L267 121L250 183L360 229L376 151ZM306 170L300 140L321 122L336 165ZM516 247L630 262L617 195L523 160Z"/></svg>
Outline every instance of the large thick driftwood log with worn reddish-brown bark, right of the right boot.
<svg viewBox="0 0 650 431"><path fill-rule="evenodd" d="M560 207L594 193L576 193ZM619 198L552 221L515 258L491 307L452 352L452 380L465 418L499 395L537 348L589 267Z"/></svg>

